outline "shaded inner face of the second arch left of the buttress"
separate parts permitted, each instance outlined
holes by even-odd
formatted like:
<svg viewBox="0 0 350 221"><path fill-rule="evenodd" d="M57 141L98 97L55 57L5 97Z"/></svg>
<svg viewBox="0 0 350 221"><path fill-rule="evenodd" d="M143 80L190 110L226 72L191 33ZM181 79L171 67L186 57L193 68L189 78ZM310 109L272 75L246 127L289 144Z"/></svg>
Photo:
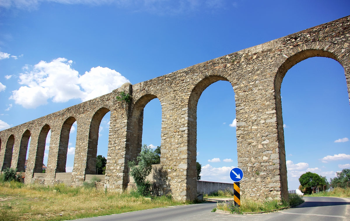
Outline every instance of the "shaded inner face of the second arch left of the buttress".
<svg viewBox="0 0 350 221"><path fill-rule="evenodd" d="M61 133L59 135L56 173L66 172L65 167L67 162L69 133L74 122L76 122L76 119L70 116L64 121L62 125Z"/></svg>

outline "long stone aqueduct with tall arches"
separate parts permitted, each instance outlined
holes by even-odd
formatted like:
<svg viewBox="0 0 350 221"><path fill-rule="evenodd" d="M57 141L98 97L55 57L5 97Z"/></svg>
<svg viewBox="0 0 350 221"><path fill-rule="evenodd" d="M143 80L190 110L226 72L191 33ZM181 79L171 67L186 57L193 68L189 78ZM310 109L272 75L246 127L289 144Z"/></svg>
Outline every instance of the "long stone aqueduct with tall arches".
<svg viewBox="0 0 350 221"><path fill-rule="evenodd" d="M245 177L246 197L287 196L287 169L280 88L290 67L309 57L328 57L343 67L350 94L350 16L321 24L251 48L196 64L138 84L125 84L112 93L0 131L0 166L24 170L31 137L26 182L41 172L45 139L51 130L44 184L65 172L69 130L77 122L76 152L71 184L80 185L95 173L98 127L111 112L105 188L122 191L127 162L141 149L143 108L158 98L162 106L162 193L175 199L196 198L196 112L206 87L229 81L235 91L238 167ZM130 103L116 100L121 91ZM259 171L259 173L255 173Z"/></svg>

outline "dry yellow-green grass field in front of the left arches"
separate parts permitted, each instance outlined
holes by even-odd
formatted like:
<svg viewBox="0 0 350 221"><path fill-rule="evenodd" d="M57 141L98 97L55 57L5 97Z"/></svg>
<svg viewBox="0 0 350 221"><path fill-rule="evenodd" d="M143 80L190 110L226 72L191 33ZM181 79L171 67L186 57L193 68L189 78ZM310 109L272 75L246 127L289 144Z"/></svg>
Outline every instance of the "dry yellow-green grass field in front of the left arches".
<svg viewBox="0 0 350 221"><path fill-rule="evenodd" d="M4 221L70 220L182 204L165 196L149 201L135 192L0 183L0 220Z"/></svg>

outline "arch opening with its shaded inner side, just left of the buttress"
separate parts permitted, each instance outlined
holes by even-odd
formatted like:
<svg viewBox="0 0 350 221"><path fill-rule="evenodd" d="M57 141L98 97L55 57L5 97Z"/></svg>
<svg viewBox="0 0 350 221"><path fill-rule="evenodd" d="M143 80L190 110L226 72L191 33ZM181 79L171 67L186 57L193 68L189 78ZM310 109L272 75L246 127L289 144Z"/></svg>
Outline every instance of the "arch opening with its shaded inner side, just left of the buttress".
<svg viewBox="0 0 350 221"><path fill-rule="evenodd" d="M85 174L97 174L98 172L96 168L97 154L107 156L108 134L109 134L108 118L110 117L110 115L107 115L107 113L109 112L110 112L109 109L103 107L97 110L97 112L92 117L92 120L90 123L90 130L89 130L89 143L88 143L88 149L87 149ZM104 125L102 126L101 123L103 123ZM103 133L104 127L108 128L108 133ZM99 143L99 137L102 137L103 134L107 138L103 139L104 142ZM105 140L107 140L107 142L105 142ZM103 145L103 147L100 147L101 144ZM98 148L98 146L100 148Z"/></svg>

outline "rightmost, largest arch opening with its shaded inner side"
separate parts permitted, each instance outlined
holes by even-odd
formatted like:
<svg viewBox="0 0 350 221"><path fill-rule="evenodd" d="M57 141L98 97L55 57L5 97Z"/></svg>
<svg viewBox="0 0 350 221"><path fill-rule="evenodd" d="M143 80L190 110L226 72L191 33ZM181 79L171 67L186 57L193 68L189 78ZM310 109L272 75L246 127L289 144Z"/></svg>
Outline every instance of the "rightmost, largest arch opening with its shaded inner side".
<svg viewBox="0 0 350 221"><path fill-rule="evenodd" d="M350 132L348 89L344 68L330 52L302 51L280 67L275 99L284 198L299 187L301 174L310 171L329 180L339 170L321 159L346 151L336 140Z"/></svg>

